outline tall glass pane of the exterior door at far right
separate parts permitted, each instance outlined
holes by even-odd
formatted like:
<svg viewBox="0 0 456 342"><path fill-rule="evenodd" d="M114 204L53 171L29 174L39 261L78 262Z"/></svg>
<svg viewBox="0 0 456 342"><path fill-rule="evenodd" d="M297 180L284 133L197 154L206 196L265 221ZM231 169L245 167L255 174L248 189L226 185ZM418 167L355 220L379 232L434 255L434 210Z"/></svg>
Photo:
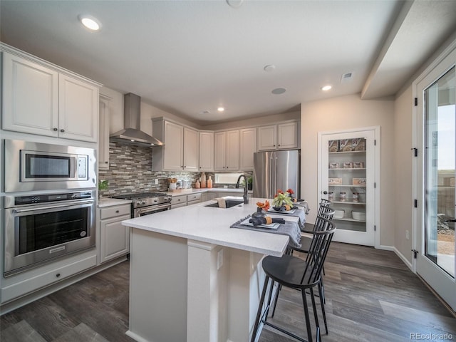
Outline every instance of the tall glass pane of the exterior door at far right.
<svg viewBox="0 0 456 342"><path fill-rule="evenodd" d="M425 89L425 256L455 277L455 67Z"/></svg>

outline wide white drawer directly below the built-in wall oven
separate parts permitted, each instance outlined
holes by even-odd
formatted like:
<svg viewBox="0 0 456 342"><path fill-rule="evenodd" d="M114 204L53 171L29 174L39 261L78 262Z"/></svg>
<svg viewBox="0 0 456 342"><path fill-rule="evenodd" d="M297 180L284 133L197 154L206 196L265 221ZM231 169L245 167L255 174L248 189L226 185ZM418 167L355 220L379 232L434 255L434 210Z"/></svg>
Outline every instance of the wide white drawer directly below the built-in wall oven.
<svg viewBox="0 0 456 342"><path fill-rule="evenodd" d="M58 267L51 271L48 271L38 276L33 276L24 281L20 281L16 284L11 284L1 289L1 302L5 303L15 299L19 296L24 296L29 292L36 291L41 289L44 286L51 285L56 281L61 281L68 278L68 276L73 276L81 271L90 269L90 267L95 266L97 263L96 255L92 255L85 259L73 262L66 266Z"/></svg>

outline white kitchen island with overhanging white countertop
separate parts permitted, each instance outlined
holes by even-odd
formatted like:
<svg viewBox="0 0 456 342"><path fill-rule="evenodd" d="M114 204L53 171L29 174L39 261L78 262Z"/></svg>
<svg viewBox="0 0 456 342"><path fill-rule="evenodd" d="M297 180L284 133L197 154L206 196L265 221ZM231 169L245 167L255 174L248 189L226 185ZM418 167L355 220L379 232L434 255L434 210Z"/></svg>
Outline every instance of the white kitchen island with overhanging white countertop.
<svg viewBox="0 0 456 342"><path fill-rule="evenodd" d="M242 197L241 197L242 198ZM289 237L230 228L256 202L222 209L211 200L128 219L130 325L136 341L249 341L264 281L261 259Z"/></svg>

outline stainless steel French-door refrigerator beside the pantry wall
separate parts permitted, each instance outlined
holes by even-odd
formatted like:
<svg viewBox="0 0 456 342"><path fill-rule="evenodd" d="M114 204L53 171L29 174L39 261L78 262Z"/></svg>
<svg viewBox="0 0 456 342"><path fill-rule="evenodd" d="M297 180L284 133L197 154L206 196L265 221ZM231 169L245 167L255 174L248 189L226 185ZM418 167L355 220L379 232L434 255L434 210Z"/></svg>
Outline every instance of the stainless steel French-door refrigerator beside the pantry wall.
<svg viewBox="0 0 456 342"><path fill-rule="evenodd" d="M299 150L254 153L254 197L273 198L278 189L292 189L300 197Z"/></svg>

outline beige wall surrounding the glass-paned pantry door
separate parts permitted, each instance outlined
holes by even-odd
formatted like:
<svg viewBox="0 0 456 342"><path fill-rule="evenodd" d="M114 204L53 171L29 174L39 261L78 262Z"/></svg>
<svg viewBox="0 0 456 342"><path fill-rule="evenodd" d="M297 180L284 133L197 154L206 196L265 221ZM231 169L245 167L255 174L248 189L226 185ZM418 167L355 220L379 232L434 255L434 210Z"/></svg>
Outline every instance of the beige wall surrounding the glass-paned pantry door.
<svg viewBox="0 0 456 342"><path fill-rule="evenodd" d="M310 222L318 205L318 132L380 126L380 242L394 246L394 101L341 96L301 104L301 197L309 202ZM378 244L378 242L377 242Z"/></svg>

